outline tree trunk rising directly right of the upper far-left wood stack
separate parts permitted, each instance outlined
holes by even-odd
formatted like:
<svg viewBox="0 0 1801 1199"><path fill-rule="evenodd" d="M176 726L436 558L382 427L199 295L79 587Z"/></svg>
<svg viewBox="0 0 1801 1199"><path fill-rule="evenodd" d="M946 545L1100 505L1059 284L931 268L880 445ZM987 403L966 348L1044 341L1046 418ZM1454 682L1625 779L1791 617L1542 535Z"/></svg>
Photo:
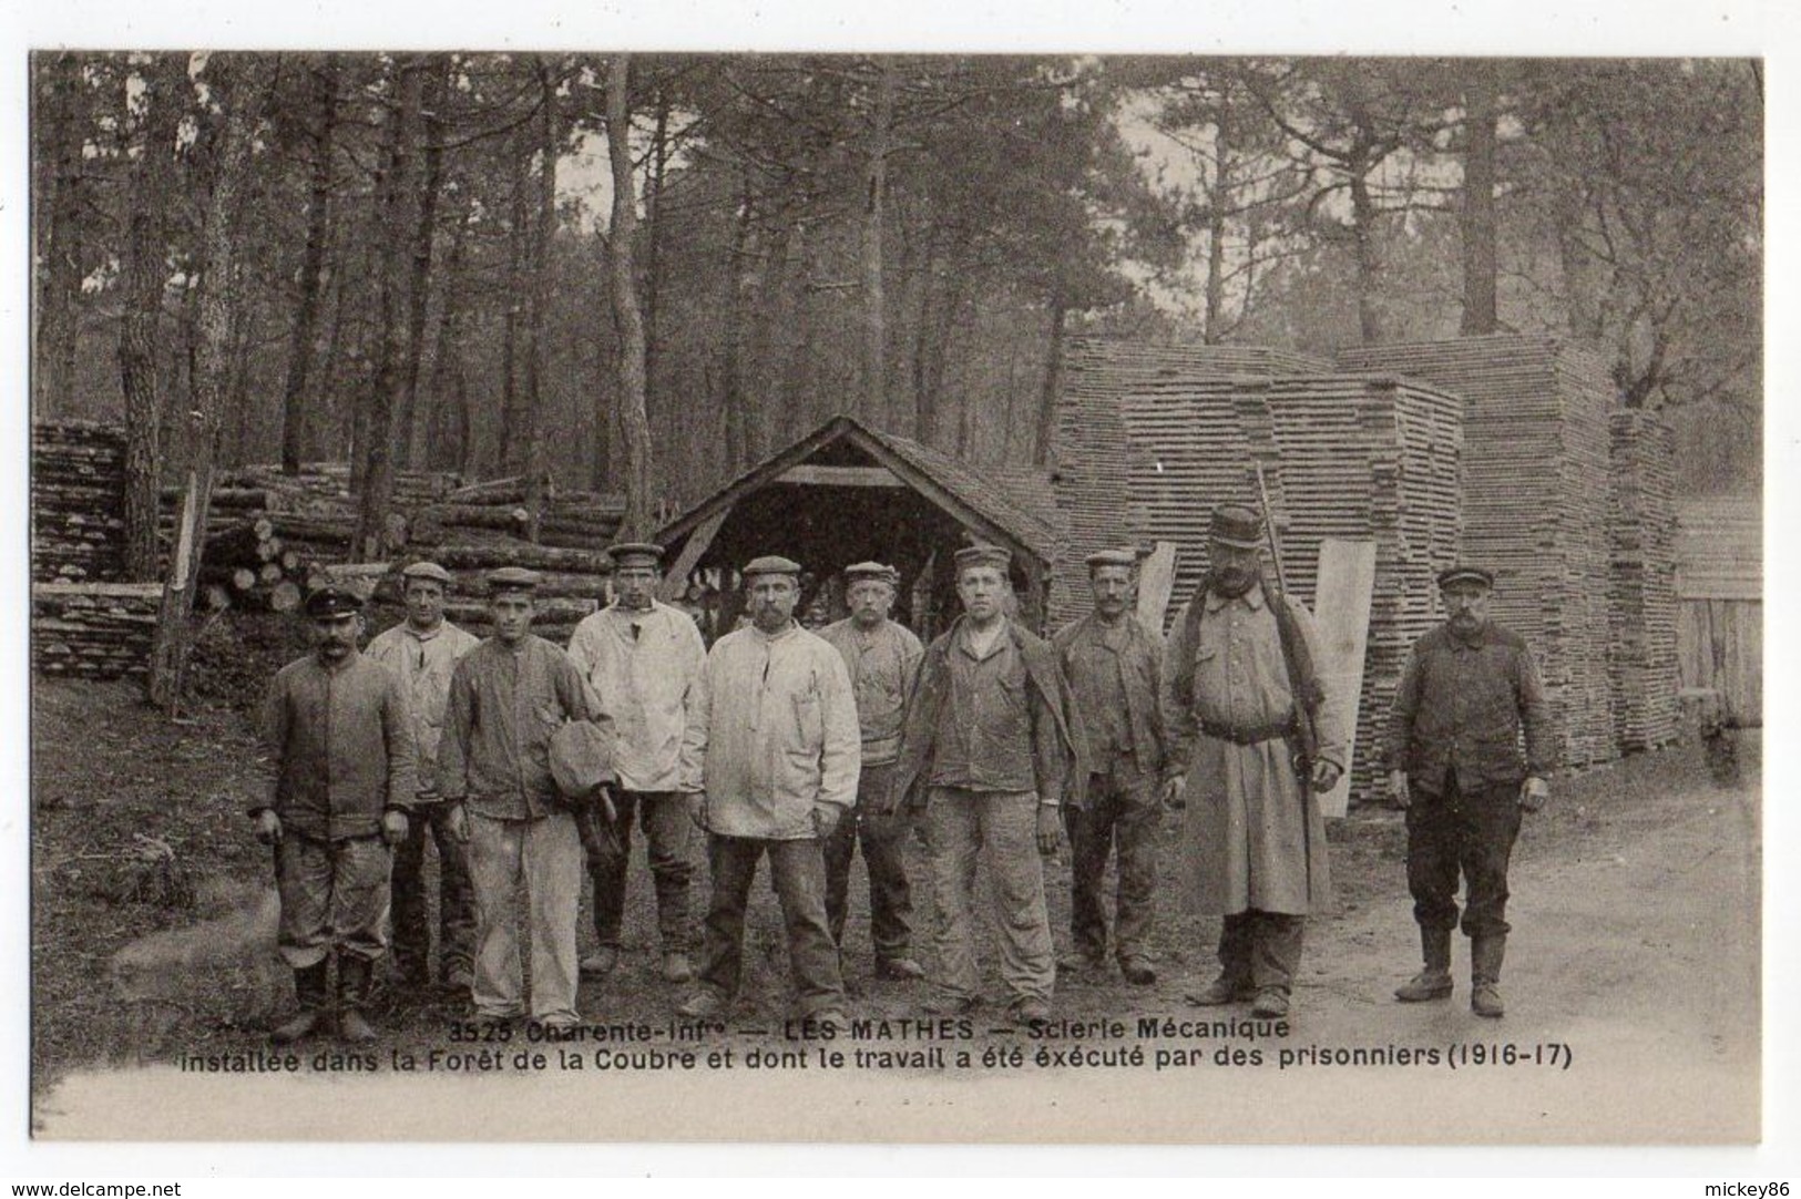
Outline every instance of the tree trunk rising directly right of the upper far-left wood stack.
<svg viewBox="0 0 1801 1199"><path fill-rule="evenodd" d="M187 63L158 56L144 72L144 140L126 216L119 383L124 392L124 572L157 578L157 488L162 477L162 293L169 281L164 212L175 200L175 133Z"/></svg>

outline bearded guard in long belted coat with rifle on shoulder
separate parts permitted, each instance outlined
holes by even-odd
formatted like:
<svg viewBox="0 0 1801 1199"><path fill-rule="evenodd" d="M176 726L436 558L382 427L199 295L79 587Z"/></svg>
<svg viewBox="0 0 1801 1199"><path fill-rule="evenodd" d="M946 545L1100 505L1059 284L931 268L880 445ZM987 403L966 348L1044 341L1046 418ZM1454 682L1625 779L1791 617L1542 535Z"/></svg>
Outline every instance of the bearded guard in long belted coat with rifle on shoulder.
<svg viewBox="0 0 1801 1199"><path fill-rule="evenodd" d="M1340 697L1320 688L1313 614L1264 589L1263 518L1214 509L1208 572L1176 614L1163 654L1183 891L1221 916L1219 978L1198 1005L1253 999L1252 1015L1288 1015L1309 911L1331 900L1317 792L1345 763ZM1311 715L1313 760L1297 720Z"/></svg>

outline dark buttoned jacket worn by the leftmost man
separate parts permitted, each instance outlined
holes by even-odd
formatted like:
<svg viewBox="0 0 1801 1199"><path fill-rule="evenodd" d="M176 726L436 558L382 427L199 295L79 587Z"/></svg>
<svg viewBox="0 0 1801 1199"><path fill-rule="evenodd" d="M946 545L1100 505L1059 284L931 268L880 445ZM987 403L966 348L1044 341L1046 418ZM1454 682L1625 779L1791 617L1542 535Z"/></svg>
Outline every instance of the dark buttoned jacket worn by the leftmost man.
<svg viewBox="0 0 1801 1199"><path fill-rule="evenodd" d="M297 834L321 839L382 832L382 810L418 792L412 727L400 682L360 654L335 666L288 663L263 704L276 763L270 807Z"/></svg>

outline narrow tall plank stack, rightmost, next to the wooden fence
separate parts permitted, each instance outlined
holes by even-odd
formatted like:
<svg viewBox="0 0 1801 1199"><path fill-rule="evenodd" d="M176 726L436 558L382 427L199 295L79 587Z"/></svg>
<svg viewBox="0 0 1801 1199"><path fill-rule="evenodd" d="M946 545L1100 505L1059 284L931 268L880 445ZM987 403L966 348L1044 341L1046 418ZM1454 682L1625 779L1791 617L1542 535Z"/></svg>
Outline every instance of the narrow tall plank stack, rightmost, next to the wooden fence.
<svg viewBox="0 0 1801 1199"><path fill-rule="evenodd" d="M1675 463L1670 427L1653 412L1615 410L1608 432L1608 682L1614 736L1632 753L1666 745L1680 729Z"/></svg>

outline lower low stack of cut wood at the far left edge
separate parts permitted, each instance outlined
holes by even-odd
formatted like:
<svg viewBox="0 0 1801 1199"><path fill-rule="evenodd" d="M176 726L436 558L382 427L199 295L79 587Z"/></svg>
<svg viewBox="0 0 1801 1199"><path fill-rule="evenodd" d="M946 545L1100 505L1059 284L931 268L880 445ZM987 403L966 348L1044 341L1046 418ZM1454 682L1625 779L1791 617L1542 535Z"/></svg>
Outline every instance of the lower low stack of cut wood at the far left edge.
<svg viewBox="0 0 1801 1199"><path fill-rule="evenodd" d="M32 670L77 679L148 675L160 600L160 583L32 583Z"/></svg>

